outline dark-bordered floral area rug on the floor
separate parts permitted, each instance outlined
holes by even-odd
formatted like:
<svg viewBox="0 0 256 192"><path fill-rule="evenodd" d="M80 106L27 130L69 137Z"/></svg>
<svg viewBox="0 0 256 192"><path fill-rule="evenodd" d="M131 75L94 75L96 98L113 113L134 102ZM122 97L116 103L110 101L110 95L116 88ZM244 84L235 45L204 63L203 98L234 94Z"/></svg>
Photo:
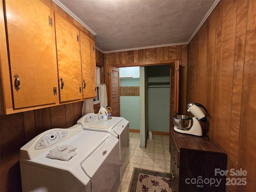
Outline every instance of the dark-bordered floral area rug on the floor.
<svg viewBox="0 0 256 192"><path fill-rule="evenodd" d="M134 167L128 192L170 192L170 173Z"/></svg>

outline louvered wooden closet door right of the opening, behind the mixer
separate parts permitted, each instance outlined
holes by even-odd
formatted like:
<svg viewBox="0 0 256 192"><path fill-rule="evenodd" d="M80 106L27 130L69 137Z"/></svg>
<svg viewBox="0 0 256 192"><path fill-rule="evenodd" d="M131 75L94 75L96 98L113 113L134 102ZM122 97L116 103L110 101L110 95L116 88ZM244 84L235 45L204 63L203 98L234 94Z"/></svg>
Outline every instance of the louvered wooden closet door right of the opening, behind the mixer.
<svg viewBox="0 0 256 192"><path fill-rule="evenodd" d="M179 111L179 73L180 62L177 60L170 64L170 133L173 130L173 116ZM171 142L169 142L171 145ZM170 146L171 147L171 146Z"/></svg>

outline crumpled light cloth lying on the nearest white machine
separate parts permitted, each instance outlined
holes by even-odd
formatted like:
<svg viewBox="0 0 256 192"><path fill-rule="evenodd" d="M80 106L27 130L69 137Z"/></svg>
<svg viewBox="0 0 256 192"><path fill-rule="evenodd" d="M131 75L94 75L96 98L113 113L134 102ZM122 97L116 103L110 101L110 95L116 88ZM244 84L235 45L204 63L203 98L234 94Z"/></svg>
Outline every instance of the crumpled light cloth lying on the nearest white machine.
<svg viewBox="0 0 256 192"><path fill-rule="evenodd" d="M72 145L56 146L46 155L47 158L69 161L76 156L76 148Z"/></svg>

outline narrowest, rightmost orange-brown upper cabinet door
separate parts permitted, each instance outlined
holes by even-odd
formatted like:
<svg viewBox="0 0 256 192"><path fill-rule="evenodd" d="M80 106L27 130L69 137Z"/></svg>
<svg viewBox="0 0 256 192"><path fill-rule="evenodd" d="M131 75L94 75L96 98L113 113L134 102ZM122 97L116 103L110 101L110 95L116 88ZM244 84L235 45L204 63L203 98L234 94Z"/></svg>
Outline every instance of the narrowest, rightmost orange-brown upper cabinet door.
<svg viewBox="0 0 256 192"><path fill-rule="evenodd" d="M96 97L96 60L94 41L80 32L83 99Z"/></svg>

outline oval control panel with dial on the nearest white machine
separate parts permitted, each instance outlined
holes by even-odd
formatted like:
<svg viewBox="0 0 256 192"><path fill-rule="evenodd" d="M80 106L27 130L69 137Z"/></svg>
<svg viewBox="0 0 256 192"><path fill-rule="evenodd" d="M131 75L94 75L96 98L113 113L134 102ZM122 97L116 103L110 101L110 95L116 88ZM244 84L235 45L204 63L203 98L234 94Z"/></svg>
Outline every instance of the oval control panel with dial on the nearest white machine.
<svg viewBox="0 0 256 192"><path fill-rule="evenodd" d="M35 149L38 150L49 147L64 139L67 134L68 132L63 130L54 130L52 132L48 132L38 140Z"/></svg>

